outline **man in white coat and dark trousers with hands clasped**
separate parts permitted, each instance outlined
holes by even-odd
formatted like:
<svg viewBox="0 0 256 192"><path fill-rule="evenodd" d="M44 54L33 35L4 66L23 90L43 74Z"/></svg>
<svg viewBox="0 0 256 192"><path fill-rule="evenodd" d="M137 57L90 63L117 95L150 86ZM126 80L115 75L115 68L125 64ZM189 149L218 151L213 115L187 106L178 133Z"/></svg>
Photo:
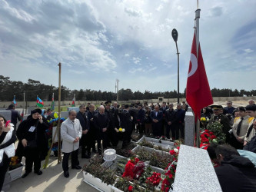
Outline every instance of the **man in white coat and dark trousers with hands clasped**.
<svg viewBox="0 0 256 192"><path fill-rule="evenodd" d="M68 158L71 154L71 168L81 169L78 161L79 140L81 138L80 121L76 118L76 111L68 111L68 118L62 123L62 152L64 154L62 169L64 176L69 177Z"/></svg>

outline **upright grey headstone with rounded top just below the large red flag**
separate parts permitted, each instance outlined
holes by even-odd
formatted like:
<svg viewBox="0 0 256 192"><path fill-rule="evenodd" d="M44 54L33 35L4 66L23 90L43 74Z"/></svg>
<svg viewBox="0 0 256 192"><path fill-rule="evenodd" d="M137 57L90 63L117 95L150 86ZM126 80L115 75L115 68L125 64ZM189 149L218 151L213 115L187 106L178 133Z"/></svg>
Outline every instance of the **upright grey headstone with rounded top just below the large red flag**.
<svg viewBox="0 0 256 192"><path fill-rule="evenodd" d="M185 116L185 145L194 146L194 114L191 111Z"/></svg>

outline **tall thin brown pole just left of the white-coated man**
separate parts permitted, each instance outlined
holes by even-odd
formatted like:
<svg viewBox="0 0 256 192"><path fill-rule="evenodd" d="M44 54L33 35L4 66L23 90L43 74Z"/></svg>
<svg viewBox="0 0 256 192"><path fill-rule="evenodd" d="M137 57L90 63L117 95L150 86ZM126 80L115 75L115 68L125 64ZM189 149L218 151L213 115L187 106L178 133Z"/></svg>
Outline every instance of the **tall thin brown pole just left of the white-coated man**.
<svg viewBox="0 0 256 192"><path fill-rule="evenodd" d="M61 76L62 63L58 64L58 164L62 162L62 147L61 147Z"/></svg>

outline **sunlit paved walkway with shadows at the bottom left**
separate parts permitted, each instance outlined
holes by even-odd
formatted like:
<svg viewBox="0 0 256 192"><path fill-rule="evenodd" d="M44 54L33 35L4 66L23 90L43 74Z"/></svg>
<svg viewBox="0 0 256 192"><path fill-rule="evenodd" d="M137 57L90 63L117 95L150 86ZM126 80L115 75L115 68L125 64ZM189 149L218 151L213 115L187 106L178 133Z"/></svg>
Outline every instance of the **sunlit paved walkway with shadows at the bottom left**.
<svg viewBox="0 0 256 192"><path fill-rule="evenodd" d="M24 161L24 158L23 158ZM88 161L87 159L81 159L81 154L79 154L79 161L81 167ZM45 161L42 161L44 164ZM48 167L42 169L43 174L38 176L32 172L25 178L18 178L13 180L11 183L11 188L8 190L10 192L58 192L58 191L89 191L94 192L95 190L90 185L83 181L83 174L81 170L71 169L69 167L68 178L65 178L62 171L62 164L58 164L55 157L50 157ZM71 165L71 162L69 162ZM25 170L23 169L23 173Z"/></svg>

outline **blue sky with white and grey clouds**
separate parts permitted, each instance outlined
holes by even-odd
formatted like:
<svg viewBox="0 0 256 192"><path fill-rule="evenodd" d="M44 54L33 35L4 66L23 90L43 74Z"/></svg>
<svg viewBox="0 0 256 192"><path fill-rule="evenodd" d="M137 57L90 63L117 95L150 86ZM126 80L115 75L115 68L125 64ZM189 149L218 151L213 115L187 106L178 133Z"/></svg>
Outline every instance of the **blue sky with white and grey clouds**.
<svg viewBox="0 0 256 192"><path fill-rule="evenodd" d="M0 0L0 74L71 89L180 90L187 81L196 0ZM211 88L255 89L256 1L200 1Z"/></svg>

